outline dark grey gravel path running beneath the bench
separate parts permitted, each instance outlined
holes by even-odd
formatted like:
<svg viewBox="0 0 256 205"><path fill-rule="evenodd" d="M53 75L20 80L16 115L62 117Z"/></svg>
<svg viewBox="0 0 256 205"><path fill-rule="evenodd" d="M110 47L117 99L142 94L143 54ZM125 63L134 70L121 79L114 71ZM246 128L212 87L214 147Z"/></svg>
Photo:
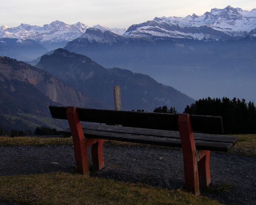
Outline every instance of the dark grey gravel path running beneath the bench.
<svg viewBox="0 0 256 205"><path fill-rule="evenodd" d="M180 150L105 146L104 159L105 167L94 176L184 189ZM224 204L256 204L256 158L212 152L210 164L212 183L202 195ZM72 146L0 147L2 176L73 172L75 166ZM219 187L226 187L229 191L215 192Z"/></svg>

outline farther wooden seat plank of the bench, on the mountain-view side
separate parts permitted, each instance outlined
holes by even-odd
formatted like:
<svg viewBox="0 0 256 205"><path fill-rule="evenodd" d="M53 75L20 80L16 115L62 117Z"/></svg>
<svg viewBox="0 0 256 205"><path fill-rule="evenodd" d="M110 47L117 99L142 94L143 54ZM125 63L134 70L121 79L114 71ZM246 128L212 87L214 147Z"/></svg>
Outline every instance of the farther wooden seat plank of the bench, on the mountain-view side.
<svg viewBox="0 0 256 205"><path fill-rule="evenodd" d="M82 125L82 129L180 139L180 133L178 131L169 131L169 130L153 130L153 129L118 127L118 126L87 124L87 123ZM67 129L66 131L69 131L69 129ZM194 135L194 139L199 141L201 140L201 141L211 141L211 142L227 142L227 143L232 143L233 145L235 145L236 142L238 142L237 136L209 135L209 134L203 134L203 133L193 133L193 135Z"/></svg>

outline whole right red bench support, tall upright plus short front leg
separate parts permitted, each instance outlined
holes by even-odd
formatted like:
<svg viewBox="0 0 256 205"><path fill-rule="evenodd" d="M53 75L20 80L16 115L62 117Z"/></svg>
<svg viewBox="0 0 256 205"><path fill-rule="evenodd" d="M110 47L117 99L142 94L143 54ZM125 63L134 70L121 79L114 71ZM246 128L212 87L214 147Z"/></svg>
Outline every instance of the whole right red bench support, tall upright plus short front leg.
<svg viewBox="0 0 256 205"><path fill-rule="evenodd" d="M179 114L178 127L183 152L186 190L199 196L199 186L203 188L211 182L210 151L196 150L188 114Z"/></svg>

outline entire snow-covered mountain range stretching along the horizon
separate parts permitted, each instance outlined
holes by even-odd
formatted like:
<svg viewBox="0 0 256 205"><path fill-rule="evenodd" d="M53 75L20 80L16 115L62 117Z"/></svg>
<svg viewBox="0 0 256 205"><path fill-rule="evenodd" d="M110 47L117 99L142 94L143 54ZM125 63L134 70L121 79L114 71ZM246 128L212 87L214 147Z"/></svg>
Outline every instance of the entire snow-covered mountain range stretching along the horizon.
<svg viewBox="0 0 256 205"><path fill-rule="evenodd" d="M54 49L78 38L88 28L88 25L81 22L69 25L61 21L53 21L43 27L21 24L9 28L2 25L0 38L32 39L40 42L47 49ZM227 6L224 9L214 8L201 16L194 13L184 18L155 17L152 21L133 24L128 29L108 28L102 25L94 25L92 28L141 39L184 38L204 41L241 39L247 36L256 37L256 9L247 11Z"/></svg>

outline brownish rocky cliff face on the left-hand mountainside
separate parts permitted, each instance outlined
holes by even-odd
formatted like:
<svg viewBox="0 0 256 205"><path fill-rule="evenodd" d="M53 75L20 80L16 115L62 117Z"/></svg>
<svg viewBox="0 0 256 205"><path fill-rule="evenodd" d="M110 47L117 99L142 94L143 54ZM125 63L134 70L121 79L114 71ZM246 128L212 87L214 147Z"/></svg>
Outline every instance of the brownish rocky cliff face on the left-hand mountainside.
<svg viewBox="0 0 256 205"><path fill-rule="evenodd" d="M15 79L34 85L53 102L61 105L85 106L81 92L74 90L43 70L14 59L0 57L0 73L7 79Z"/></svg>

